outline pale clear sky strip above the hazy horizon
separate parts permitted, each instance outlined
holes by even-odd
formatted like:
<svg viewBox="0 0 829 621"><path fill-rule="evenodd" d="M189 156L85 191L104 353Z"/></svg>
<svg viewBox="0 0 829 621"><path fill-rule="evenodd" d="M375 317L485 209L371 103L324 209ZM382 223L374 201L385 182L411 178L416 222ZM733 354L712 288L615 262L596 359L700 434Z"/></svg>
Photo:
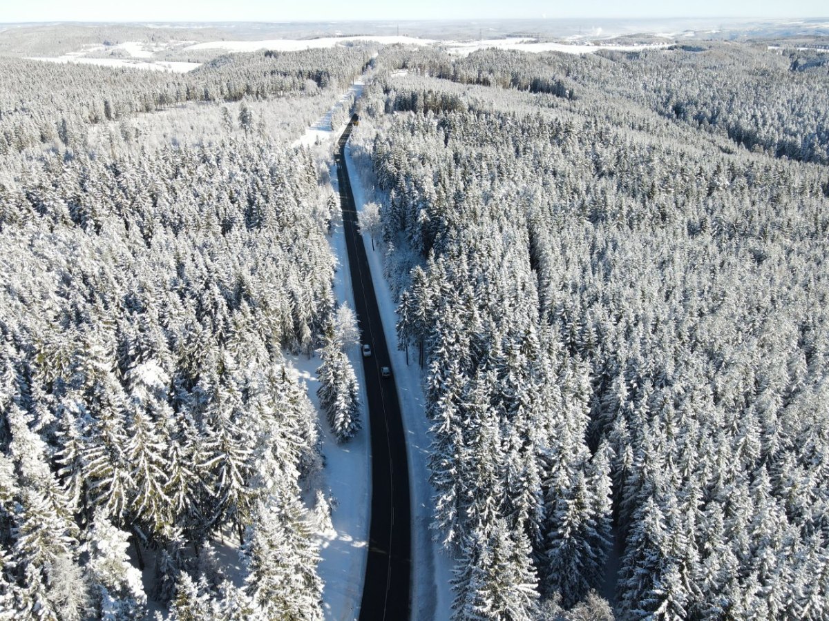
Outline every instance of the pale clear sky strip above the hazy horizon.
<svg viewBox="0 0 829 621"><path fill-rule="evenodd" d="M0 22L827 16L827 0L0 0Z"/></svg>

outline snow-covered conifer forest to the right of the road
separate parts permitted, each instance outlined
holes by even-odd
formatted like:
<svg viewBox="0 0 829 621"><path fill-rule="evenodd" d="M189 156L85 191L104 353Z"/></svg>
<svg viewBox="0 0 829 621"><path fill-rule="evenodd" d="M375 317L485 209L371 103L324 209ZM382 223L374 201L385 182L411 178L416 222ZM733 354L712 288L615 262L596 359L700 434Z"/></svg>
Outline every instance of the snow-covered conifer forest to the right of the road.
<svg viewBox="0 0 829 621"><path fill-rule="evenodd" d="M378 59L456 619L827 618L826 59Z"/></svg>

